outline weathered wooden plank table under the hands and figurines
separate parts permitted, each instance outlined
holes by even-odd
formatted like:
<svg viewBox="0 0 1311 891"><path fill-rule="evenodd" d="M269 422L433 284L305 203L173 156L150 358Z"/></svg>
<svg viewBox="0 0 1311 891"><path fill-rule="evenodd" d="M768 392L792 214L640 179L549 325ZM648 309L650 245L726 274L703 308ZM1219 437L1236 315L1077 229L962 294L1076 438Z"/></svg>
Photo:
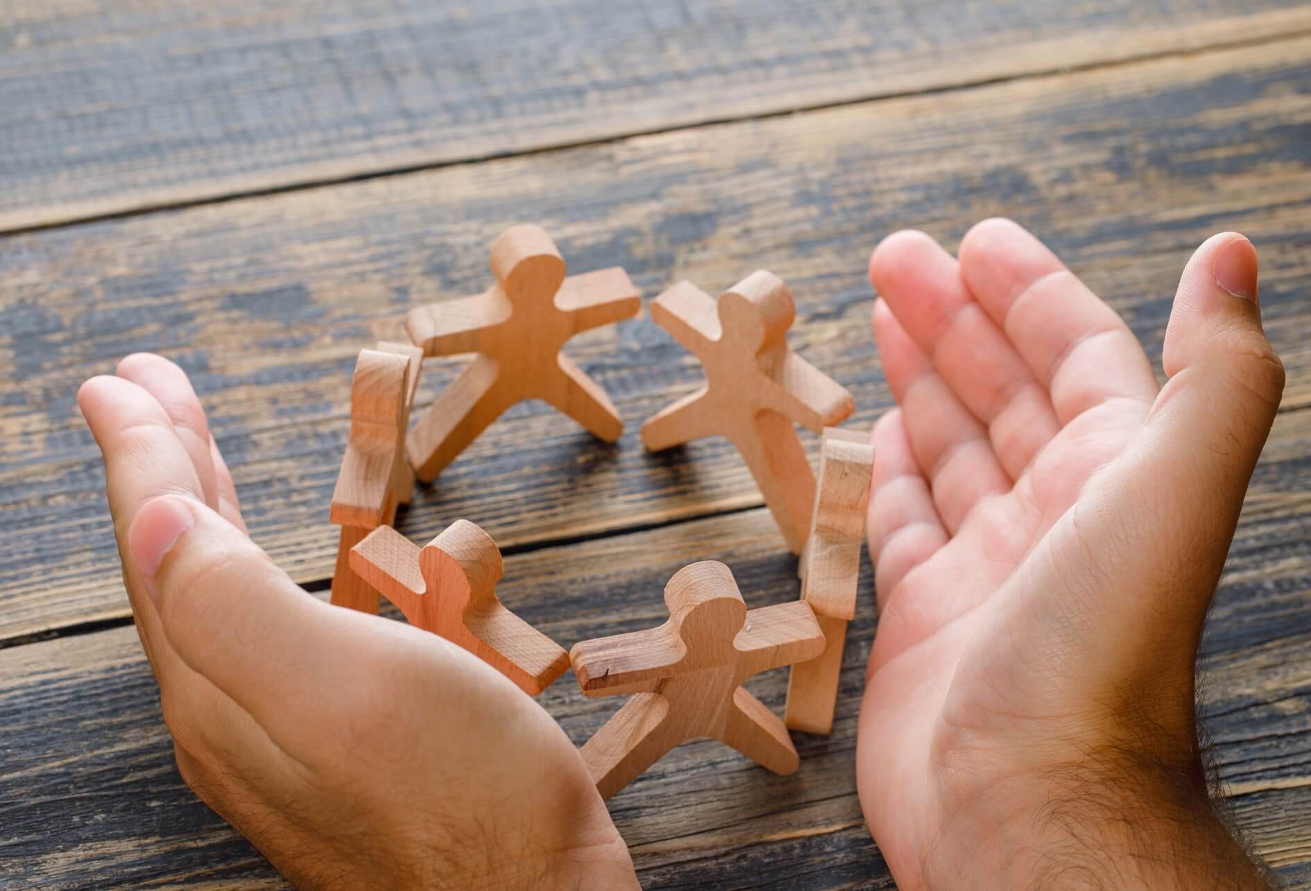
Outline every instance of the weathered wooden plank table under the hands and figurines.
<svg viewBox="0 0 1311 891"><path fill-rule="evenodd" d="M1209 751L1238 824L1311 887L1311 8L753 0L208 0L0 7L0 883L278 886L182 785L125 599L77 384L134 350L193 376L254 539L328 586L355 352L485 287L539 221L574 270L646 297L767 266L792 342L890 397L865 258L1006 214L1125 314L1159 364L1184 262L1234 228L1289 387L1207 626ZM670 574L726 561L747 601L794 561L735 453L644 453L695 362L649 318L572 355L627 430L513 410L400 516L467 516L506 604L566 646L648 626ZM456 364L429 363L422 401ZM814 440L808 447L814 455ZM863 580L869 590L869 571ZM865 596L835 732L775 777L679 748L611 810L648 887L886 887L852 773ZM779 709L784 672L753 683ZM615 708L543 696L583 740Z"/></svg>

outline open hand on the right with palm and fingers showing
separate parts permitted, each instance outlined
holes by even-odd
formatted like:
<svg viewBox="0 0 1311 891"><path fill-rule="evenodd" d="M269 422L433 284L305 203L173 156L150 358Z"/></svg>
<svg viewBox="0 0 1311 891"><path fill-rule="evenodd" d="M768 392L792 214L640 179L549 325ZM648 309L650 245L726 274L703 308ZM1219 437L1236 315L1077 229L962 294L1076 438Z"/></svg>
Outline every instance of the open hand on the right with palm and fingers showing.
<svg viewBox="0 0 1311 891"><path fill-rule="evenodd" d="M903 888L1265 887L1213 814L1202 621L1283 389L1256 250L1184 271L1159 388L1015 223L874 250L878 630L860 801Z"/></svg>

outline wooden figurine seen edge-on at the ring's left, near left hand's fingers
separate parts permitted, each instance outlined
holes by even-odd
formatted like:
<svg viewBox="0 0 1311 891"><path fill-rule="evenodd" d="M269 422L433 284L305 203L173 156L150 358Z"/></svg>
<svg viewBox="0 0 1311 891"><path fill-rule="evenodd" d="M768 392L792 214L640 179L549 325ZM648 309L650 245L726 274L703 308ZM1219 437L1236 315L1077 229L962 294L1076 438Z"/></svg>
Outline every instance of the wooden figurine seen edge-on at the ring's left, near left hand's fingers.
<svg viewBox="0 0 1311 891"><path fill-rule="evenodd" d="M350 567L350 549L379 525L391 525L408 503L414 473L405 460L405 428L418 388L423 351L409 343L382 342L361 350L350 384L350 436L337 474L329 519L341 527L332 601L378 612L378 592Z"/></svg>

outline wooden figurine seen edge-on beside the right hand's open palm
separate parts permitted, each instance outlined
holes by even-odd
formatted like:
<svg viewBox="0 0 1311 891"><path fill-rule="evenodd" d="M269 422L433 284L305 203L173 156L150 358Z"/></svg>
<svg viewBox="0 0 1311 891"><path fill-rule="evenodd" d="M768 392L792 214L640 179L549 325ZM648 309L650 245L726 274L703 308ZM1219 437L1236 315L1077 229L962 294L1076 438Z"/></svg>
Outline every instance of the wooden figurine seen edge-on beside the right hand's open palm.
<svg viewBox="0 0 1311 891"><path fill-rule="evenodd" d="M822 655L791 668L783 719L793 730L832 731L847 622L856 616L860 545L873 472L874 448L868 434L836 427L823 431L815 506L800 574L801 599L814 609L827 646Z"/></svg>

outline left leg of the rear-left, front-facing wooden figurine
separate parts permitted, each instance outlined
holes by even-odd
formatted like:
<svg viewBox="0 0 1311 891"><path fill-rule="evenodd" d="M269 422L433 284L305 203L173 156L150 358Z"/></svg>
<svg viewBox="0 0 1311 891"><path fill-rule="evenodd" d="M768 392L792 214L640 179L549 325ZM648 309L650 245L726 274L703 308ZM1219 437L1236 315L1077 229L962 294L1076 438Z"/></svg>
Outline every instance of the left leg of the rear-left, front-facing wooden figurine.
<svg viewBox="0 0 1311 891"><path fill-rule="evenodd" d="M435 480L510 408L497 392L496 383L496 360L480 355L418 419L405 438L405 451L420 480Z"/></svg>

